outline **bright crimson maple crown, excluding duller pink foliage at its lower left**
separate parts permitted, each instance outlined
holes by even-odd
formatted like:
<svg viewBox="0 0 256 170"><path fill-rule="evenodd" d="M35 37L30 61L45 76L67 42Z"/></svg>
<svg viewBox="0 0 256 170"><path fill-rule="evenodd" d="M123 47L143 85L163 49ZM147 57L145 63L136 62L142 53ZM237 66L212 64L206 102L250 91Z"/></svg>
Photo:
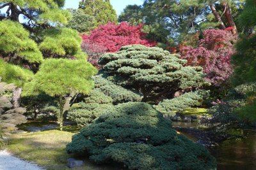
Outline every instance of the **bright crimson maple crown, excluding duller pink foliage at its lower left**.
<svg viewBox="0 0 256 170"><path fill-rule="evenodd" d="M88 40L107 48L107 52L116 52L122 46L140 44L145 46L155 46L155 41L146 39L147 34L141 31L143 25L132 26L126 22L116 25L108 23L100 25L98 29L94 29L90 35L83 35L83 41Z"/></svg>

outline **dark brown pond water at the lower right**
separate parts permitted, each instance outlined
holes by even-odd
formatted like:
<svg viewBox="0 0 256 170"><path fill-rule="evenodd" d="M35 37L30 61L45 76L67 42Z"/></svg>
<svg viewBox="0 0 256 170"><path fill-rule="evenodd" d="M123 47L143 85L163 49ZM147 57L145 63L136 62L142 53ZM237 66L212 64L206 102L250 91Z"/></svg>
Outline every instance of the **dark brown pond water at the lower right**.
<svg viewBox="0 0 256 170"><path fill-rule="evenodd" d="M173 122L174 126L194 127L196 123ZM209 151L218 161L218 169L225 170L256 170L256 129L244 130L248 134L244 139L227 140ZM195 136L184 133L195 141Z"/></svg>

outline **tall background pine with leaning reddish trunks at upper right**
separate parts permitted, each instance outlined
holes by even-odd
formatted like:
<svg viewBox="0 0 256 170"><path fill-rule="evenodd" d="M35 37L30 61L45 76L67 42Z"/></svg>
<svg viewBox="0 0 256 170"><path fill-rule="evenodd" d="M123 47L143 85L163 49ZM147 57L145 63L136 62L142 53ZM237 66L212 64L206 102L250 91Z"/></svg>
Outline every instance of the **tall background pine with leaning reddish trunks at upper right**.
<svg viewBox="0 0 256 170"><path fill-rule="evenodd" d="M145 24L149 38L161 43L183 41L192 32L232 27L237 34L237 14L243 1L146 0L142 6L127 6L118 20ZM233 12L232 12L233 11ZM132 17L137 13L140 17Z"/></svg>

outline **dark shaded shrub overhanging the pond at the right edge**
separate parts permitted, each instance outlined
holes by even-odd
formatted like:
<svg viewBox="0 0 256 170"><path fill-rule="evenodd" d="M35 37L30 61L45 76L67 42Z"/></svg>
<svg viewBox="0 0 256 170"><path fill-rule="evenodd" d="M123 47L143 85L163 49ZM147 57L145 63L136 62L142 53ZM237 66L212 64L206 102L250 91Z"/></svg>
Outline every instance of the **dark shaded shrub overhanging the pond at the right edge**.
<svg viewBox="0 0 256 170"><path fill-rule="evenodd" d="M217 127L218 131L226 131L229 125L241 122L256 122L256 83L245 83L230 90L223 101L213 102L209 110L211 120L203 120L203 124Z"/></svg>

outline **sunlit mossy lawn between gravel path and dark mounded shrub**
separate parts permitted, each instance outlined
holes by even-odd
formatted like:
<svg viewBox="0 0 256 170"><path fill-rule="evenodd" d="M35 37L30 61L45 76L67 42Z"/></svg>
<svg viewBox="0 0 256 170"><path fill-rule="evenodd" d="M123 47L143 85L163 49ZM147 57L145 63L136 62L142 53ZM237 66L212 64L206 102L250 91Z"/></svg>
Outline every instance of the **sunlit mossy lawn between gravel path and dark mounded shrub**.
<svg viewBox="0 0 256 170"><path fill-rule="evenodd" d="M26 134L13 134L8 151L17 155L21 159L29 160L42 166L45 169L68 169L67 159L69 155L65 146L70 143L72 132L51 130ZM74 169L122 169L113 166L93 164L88 159L84 159L84 166Z"/></svg>

